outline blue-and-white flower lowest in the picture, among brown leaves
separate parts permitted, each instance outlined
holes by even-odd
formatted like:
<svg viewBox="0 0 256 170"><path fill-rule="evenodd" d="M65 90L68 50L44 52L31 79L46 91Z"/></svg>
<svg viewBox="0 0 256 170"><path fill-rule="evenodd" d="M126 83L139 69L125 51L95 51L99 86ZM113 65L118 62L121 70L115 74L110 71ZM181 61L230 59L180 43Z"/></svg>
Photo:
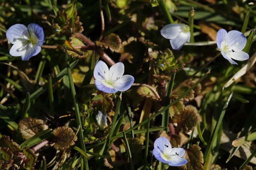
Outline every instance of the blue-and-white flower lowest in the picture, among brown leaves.
<svg viewBox="0 0 256 170"><path fill-rule="evenodd" d="M182 156L185 150L183 148L172 148L166 137L160 137L154 142L153 154L157 160L166 163L169 166L182 166L188 161Z"/></svg>

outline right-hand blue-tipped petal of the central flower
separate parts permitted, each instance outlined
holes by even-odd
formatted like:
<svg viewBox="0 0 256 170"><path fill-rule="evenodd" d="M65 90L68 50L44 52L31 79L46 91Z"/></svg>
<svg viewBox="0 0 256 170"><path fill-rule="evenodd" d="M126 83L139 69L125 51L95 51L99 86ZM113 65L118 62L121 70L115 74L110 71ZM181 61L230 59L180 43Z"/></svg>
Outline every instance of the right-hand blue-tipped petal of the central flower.
<svg viewBox="0 0 256 170"><path fill-rule="evenodd" d="M118 91L124 92L132 86L133 82L134 82L133 76L124 75L120 77L118 80L116 80L116 82L114 83L114 86Z"/></svg>

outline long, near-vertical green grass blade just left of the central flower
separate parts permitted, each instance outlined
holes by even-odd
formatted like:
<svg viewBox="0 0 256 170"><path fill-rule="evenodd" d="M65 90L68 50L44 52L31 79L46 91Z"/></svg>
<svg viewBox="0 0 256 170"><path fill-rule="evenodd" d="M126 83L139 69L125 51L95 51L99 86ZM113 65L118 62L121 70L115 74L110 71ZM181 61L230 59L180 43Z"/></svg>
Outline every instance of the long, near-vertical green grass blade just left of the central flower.
<svg viewBox="0 0 256 170"><path fill-rule="evenodd" d="M74 104L74 108L75 108L76 123L77 123L77 127L81 128L78 131L78 138L79 138L82 150L86 153L86 148L85 148L85 144L84 144L84 134L83 134L83 131L82 131L82 127L84 127L84 126L82 125L82 121L81 121L81 117L80 117L78 101L77 101L77 98L76 98L76 90L75 90L75 85L74 85L73 78L72 78L71 68L70 68L69 61L68 61L68 52L67 52L66 47L65 47L65 59L66 59L66 69L67 69L67 73L68 73L68 79L69 79L69 82L70 82L70 90L71 90L73 104ZM87 158L85 156L83 157L83 160L84 160L83 163L84 163L85 169L89 170L88 161L87 161Z"/></svg>

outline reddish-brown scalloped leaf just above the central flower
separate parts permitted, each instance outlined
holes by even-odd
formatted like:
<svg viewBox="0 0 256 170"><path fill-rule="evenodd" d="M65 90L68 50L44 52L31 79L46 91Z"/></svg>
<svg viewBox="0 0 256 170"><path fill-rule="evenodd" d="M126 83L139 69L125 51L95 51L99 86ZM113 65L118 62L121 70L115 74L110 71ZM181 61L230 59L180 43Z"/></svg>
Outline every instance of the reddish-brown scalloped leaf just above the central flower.
<svg viewBox="0 0 256 170"><path fill-rule="evenodd" d="M105 49L110 49L112 52L118 53L122 48L122 41L120 37L114 33L106 36L101 42L95 42L98 47L104 47Z"/></svg>

